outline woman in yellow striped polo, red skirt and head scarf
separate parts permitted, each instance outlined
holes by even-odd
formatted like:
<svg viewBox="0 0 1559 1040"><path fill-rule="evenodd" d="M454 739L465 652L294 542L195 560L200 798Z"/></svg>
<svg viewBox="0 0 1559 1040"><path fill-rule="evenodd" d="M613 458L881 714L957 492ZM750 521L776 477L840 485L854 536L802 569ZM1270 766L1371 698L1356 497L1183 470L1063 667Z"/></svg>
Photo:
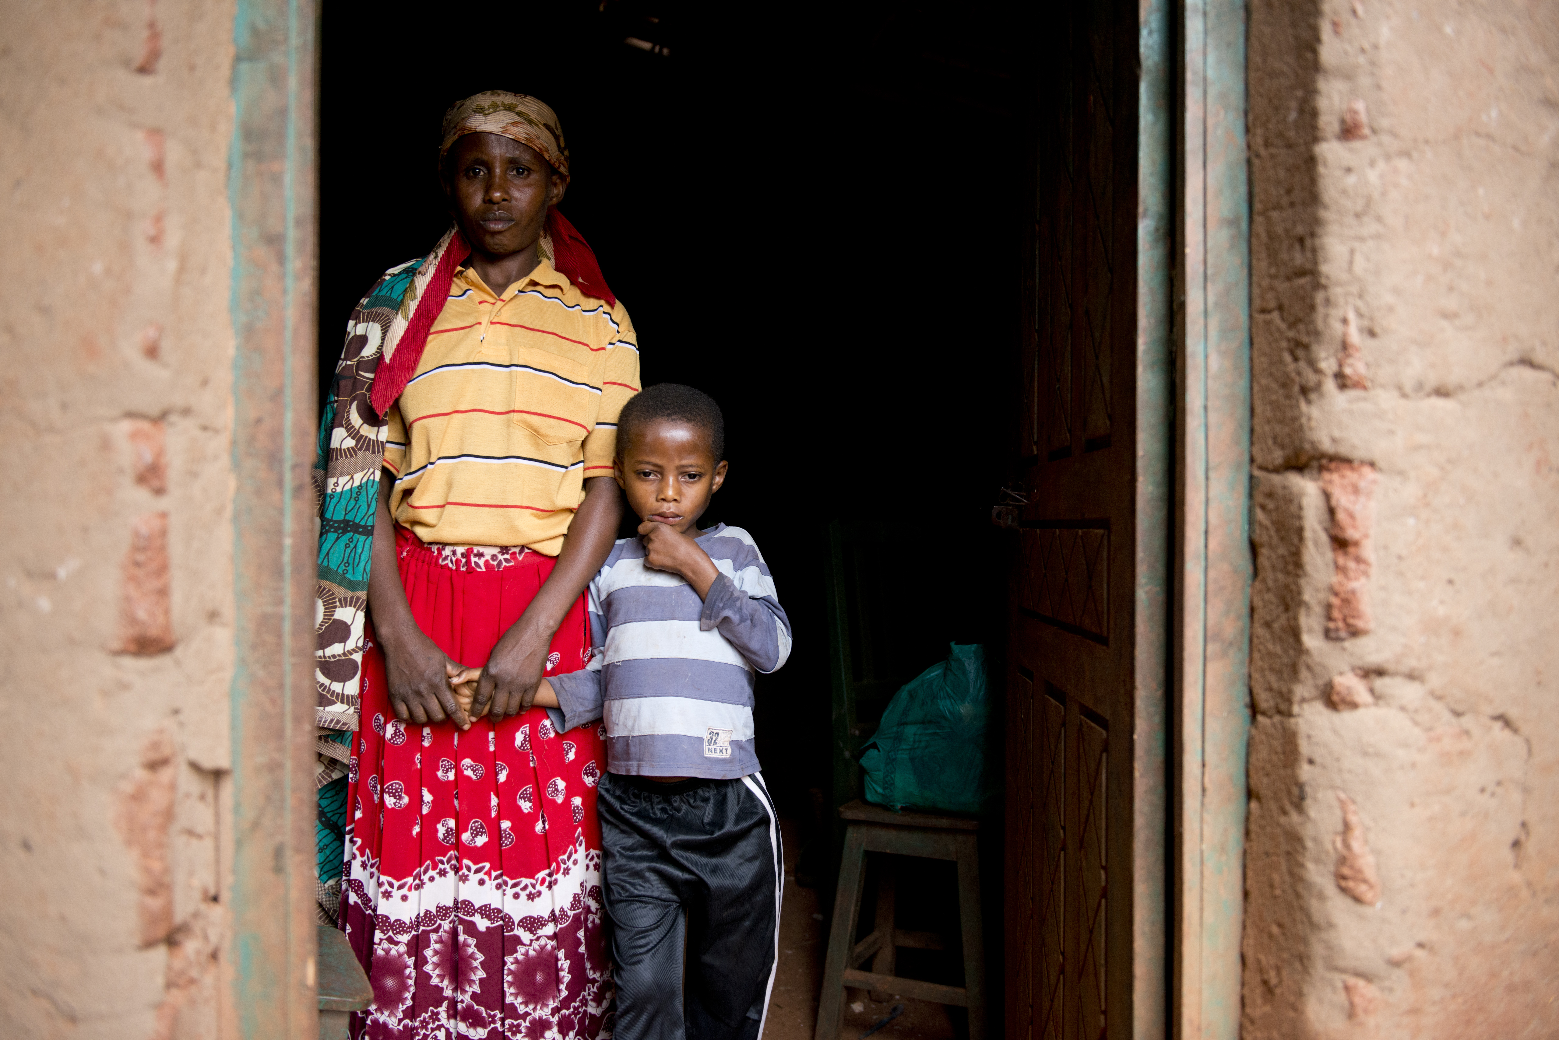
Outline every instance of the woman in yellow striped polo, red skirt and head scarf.
<svg viewBox="0 0 1559 1040"><path fill-rule="evenodd" d="M586 660L638 348L555 209L550 108L460 101L440 176L455 226L359 304L321 432L318 714L357 730L340 915L374 987L354 1035L597 1037L605 753L532 700Z"/></svg>

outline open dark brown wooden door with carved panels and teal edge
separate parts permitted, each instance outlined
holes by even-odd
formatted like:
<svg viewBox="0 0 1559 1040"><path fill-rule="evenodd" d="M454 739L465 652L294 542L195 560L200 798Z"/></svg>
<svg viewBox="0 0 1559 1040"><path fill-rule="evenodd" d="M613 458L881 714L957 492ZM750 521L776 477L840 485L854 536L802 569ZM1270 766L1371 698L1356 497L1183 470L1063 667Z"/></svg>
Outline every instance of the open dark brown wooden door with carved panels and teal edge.
<svg viewBox="0 0 1559 1040"><path fill-rule="evenodd" d="M1133 3L1054 16L1024 281L1029 504L1007 664L1006 1035L1152 1037L1165 1015L1171 446L1168 320L1151 313L1165 304L1166 254L1144 229L1138 190L1147 34Z"/></svg>

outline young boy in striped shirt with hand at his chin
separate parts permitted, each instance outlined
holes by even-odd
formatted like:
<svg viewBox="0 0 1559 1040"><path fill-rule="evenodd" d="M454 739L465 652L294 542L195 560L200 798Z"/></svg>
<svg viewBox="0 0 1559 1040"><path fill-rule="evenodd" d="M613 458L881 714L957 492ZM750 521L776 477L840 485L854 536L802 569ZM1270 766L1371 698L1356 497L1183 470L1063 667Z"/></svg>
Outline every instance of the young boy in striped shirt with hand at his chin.
<svg viewBox="0 0 1559 1040"><path fill-rule="evenodd" d="M719 405L661 384L617 423L613 476L639 536L617 541L591 582L588 667L543 680L536 703L561 708L564 728L606 723L597 812L614 1035L756 1040L783 867L753 752L753 674L784 664L790 622L751 536L695 527L725 483Z"/></svg>

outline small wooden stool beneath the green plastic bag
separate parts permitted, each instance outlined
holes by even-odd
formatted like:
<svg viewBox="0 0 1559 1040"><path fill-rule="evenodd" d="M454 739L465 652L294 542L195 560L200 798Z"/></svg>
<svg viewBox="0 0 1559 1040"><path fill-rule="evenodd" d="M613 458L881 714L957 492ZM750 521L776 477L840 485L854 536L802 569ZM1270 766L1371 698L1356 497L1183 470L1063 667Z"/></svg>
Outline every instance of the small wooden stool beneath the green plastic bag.
<svg viewBox="0 0 1559 1040"><path fill-rule="evenodd" d="M985 948L979 926L979 823L957 815L934 812L893 812L864 801L839 808L845 825L845 854L839 864L839 890L834 895L834 925L828 932L828 959L823 964L823 992L817 999L815 1040L839 1040L843 1021L845 987L867 989L876 995L900 995L935 1004L968 1009L970 1040L985 1035ZM870 936L854 942L861 915L861 892L865 887L867 853L951 859L959 868L959 931L963 934L963 985L940 985L893 975L895 950L940 950L942 940L932 932L909 932L893 928L892 875L878 884L875 926ZM859 965L871 957L871 970Z"/></svg>

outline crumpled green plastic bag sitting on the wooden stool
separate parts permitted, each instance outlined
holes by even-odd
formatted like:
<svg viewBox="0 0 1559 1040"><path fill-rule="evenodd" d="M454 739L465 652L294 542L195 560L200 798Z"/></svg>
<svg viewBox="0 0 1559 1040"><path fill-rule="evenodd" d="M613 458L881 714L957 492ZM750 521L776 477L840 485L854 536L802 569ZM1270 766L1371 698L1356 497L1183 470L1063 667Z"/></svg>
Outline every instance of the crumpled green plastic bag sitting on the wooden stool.
<svg viewBox="0 0 1559 1040"><path fill-rule="evenodd" d="M970 814L992 808L985 647L949 646L946 661L893 694L876 734L861 748L867 801Z"/></svg>

